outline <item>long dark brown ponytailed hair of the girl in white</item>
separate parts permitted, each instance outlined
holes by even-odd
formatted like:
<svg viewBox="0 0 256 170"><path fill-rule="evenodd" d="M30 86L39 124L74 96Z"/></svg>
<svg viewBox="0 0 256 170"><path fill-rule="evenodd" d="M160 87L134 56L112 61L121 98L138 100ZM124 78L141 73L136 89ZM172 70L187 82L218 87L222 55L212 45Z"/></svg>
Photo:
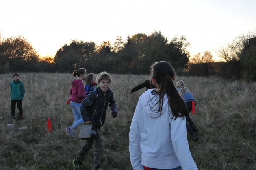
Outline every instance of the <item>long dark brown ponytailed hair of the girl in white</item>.
<svg viewBox="0 0 256 170"><path fill-rule="evenodd" d="M159 100L155 106L159 103L158 112L160 115L163 108L163 99L165 94L167 95L169 107L171 108L173 116L171 119L177 119L177 117L188 117L188 109L185 101L179 95L177 89L173 84L173 78L175 77L175 71L171 64L166 61L155 62L151 66L151 76L156 80L158 84Z"/></svg>

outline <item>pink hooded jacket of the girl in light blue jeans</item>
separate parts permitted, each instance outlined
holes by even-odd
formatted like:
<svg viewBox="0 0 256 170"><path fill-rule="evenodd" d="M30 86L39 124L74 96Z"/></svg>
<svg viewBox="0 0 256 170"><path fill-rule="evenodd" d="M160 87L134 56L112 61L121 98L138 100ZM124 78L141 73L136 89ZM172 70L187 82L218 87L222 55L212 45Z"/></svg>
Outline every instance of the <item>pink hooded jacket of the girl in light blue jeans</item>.
<svg viewBox="0 0 256 170"><path fill-rule="evenodd" d="M69 98L70 101L75 103L82 103L86 97L84 94L85 89L84 89L83 81L79 79L74 79L71 84L72 84L72 87L69 91L69 94L72 96Z"/></svg>

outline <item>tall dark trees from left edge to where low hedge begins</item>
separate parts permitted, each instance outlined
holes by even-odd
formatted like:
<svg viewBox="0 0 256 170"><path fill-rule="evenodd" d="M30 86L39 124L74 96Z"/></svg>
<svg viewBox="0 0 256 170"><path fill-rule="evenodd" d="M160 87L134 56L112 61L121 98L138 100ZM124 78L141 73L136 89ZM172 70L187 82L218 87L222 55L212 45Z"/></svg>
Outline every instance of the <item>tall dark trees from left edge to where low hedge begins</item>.
<svg viewBox="0 0 256 170"><path fill-rule="evenodd" d="M117 36L111 44L71 40L54 57L40 57L21 35L3 38L0 42L0 73L4 72L72 72L86 68L89 72L148 74L152 63L165 60L176 71L188 67L190 44L184 35L168 40L161 31L128 36L125 41Z"/></svg>

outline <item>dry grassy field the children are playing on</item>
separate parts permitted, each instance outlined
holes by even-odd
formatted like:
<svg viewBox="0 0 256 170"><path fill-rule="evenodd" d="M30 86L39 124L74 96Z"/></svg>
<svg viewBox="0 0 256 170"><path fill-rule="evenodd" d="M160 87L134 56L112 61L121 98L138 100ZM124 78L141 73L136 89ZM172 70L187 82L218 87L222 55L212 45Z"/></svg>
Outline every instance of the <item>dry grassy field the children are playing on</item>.
<svg viewBox="0 0 256 170"><path fill-rule="evenodd" d="M101 128L103 138L102 168L132 170L129 156L129 129L133 113L145 89L128 95L145 75L111 74L111 90L117 101L118 117L110 110ZM0 170L71 170L84 141L72 140L65 128L74 115L66 103L71 74L21 73L26 94L25 119L15 121L10 115L12 75L0 75ZM256 83L224 80L218 77L176 77L183 80L197 100L197 142L190 140L192 157L199 170L256 170ZM15 115L18 115L16 110ZM50 118L53 132L46 129ZM7 124L12 123L11 128ZM26 126L28 129L17 130ZM79 131L79 129L78 129ZM78 135L78 132L77 132ZM83 170L93 169L93 150L83 162Z"/></svg>

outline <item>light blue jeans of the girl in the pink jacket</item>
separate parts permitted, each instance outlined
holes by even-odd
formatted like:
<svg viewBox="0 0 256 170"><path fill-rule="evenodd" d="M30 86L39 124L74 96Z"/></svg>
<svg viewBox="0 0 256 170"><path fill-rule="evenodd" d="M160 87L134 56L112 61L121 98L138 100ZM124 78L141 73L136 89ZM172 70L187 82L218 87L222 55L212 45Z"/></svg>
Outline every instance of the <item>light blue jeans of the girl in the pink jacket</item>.
<svg viewBox="0 0 256 170"><path fill-rule="evenodd" d="M80 112L81 103L75 103L75 102L70 101L70 106L73 110L75 121L74 121L73 125L70 126L69 128L71 130L73 130L74 128L76 128L77 126L82 124L84 121L83 121L83 118L82 118L81 112Z"/></svg>

